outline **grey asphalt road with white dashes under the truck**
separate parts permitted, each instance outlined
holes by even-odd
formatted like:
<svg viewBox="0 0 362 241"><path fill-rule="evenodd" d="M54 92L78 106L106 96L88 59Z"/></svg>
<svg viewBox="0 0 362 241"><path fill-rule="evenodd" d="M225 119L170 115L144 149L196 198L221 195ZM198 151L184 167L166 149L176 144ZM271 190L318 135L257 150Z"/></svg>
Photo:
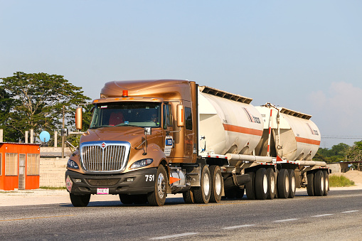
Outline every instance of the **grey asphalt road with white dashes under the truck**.
<svg viewBox="0 0 362 241"><path fill-rule="evenodd" d="M362 190L164 207L91 202L0 207L0 240L361 240Z"/></svg>

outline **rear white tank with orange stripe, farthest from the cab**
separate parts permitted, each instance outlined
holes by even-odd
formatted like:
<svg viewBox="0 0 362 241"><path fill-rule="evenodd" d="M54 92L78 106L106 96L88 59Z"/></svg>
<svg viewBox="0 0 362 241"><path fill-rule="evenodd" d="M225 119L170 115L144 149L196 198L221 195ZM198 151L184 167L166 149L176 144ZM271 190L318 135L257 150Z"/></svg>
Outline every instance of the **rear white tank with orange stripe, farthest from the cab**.
<svg viewBox="0 0 362 241"><path fill-rule="evenodd" d="M312 160L319 149L321 136L316 124L310 120L311 115L277 108L270 103L256 109L262 114L264 122L262 139L255 149L257 155L267 156L269 143L270 156L289 161Z"/></svg>

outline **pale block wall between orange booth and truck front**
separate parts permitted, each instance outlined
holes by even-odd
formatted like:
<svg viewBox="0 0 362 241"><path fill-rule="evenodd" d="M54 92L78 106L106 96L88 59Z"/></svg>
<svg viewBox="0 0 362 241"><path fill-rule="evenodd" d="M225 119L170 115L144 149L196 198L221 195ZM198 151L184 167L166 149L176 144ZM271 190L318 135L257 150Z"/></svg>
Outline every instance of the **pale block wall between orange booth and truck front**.
<svg viewBox="0 0 362 241"><path fill-rule="evenodd" d="M39 186L65 186L65 171L68 157L41 158Z"/></svg>

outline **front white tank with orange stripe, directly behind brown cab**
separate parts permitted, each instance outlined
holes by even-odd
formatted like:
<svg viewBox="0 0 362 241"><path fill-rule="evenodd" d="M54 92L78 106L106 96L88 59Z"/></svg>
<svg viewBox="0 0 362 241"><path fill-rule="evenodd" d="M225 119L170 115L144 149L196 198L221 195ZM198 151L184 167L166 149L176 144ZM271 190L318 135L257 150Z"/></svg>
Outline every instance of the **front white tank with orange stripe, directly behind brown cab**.
<svg viewBox="0 0 362 241"><path fill-rule="evenodd" d="M263 129L252 99L206 86L198 90L199 154L252 154Z"/></svg>

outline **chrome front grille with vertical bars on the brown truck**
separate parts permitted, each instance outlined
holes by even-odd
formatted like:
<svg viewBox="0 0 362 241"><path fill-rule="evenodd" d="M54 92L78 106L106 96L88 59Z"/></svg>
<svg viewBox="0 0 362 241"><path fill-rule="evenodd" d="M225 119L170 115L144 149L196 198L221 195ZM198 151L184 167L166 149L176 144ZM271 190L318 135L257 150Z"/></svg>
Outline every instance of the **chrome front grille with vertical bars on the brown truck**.
<svg viewBox="0 0 362 241"><path fill-rule="evenodd" d="M129 143L93 141L80 147L82 168L90 172L122 171L128 161Z"/></svg>

